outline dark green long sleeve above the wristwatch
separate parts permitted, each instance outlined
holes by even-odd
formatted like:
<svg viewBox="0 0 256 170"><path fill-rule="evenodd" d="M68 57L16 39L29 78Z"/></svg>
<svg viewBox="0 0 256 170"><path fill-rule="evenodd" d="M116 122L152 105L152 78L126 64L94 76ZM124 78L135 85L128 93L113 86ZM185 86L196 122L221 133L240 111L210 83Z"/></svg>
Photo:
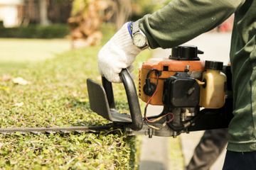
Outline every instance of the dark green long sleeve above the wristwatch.
<svg viewBox="0 0 256 170"><path fill-rule="evenodd" d="M139 27L151 48L181 45L225 21L245 0L173 0L144 16ZM210 42L209 42L210 43Z"/></svg>

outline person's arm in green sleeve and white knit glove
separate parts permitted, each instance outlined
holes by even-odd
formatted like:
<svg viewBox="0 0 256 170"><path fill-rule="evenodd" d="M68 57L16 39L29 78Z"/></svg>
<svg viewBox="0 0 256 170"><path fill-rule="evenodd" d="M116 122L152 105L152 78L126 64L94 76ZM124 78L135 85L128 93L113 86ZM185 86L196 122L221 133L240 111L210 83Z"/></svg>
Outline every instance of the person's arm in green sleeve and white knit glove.
<svg viewBox="0 0 256 170"><path fill-rule="evenodd" d="M215 28L245 0L173 0L156 13L144 16L139 26L151 48L175 47ZM210 42L209 42L210 43ZM108 80L119 82L119 72L142 51L135 47L127 25L102 47L99 69Z"/></svg>

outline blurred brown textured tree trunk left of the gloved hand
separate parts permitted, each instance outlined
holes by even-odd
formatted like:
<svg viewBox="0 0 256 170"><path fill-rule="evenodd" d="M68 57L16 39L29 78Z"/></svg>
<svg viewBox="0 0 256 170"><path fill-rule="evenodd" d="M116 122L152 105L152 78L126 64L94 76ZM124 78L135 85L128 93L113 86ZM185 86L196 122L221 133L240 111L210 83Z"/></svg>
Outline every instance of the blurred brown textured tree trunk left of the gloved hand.
<svg viewBox="0 0 256 170"><path fill-rule="evenodd" d="M108 0L74 0L71 17L68 19L71 30L72 46L87 47L97 45L102 39L100 27L102 22L110 18L107 12Z"/></svg>

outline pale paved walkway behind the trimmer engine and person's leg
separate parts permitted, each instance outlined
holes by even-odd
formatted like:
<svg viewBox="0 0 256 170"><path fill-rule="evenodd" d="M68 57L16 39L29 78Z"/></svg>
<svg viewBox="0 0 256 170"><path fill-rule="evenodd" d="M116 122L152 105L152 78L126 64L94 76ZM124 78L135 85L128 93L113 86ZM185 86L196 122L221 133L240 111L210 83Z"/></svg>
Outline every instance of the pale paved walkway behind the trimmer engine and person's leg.
<svg viewBox="0 0 256 170"><path fill-rule="evenodd" d="M186 43L187 45L196 45L198 49L205 52L200 55L201 60L217 60L228 63L229 48L230 48L230 34L229 33L206 33L198 38ZM153 52L153 57L168 57L171 50L157 49ZM149 111L156 113L159 108L151 107ZM203 135L203 132L191 132L190 134L181 135L181 146L185 164L188 164L192 157L193 149L198 144L198 141ZM140 169L171 169L169 163L169 140L168 137L153 137L149 139L144 137L142 140L142 157ZM212 166L211 170L222 169L225 152L221 154L217 162Z"/></svg>

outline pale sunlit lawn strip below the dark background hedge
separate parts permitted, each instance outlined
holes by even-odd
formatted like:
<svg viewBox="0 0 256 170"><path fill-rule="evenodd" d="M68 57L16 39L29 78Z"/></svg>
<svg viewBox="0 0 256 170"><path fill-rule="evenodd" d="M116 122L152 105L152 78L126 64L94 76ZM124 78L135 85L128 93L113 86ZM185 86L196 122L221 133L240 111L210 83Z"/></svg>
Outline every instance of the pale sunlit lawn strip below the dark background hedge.
<svg viewBox="0 0 256 170"><path fill-rule="evenodd" d="M1 62L38 62L68 50L70 41L65 39L37 40L0 38Z"/></svg>

